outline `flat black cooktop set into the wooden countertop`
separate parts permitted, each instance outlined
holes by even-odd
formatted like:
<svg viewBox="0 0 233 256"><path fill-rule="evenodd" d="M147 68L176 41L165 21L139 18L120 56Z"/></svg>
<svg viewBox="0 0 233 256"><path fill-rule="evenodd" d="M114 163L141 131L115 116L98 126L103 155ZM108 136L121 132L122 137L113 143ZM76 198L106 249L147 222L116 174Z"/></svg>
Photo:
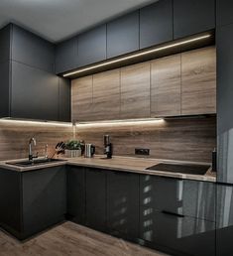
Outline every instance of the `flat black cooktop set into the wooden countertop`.
<svg viewBox="0 0 233 256"><path fill-rule="evenodd" d="M210 166L207 165L189 165L189 164L167 164L161 163L147 168L151 171L163 171L170 173L181 173L189 175L205 175Z"/></svg>

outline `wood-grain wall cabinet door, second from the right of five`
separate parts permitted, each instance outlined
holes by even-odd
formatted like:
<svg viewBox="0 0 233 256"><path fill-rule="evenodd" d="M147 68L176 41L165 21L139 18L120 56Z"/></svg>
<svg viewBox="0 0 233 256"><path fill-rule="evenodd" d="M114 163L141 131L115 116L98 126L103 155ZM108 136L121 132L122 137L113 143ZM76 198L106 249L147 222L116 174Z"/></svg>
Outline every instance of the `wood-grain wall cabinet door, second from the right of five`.
<svg viewBox="0 0 233 256"><path fill-rule="evenodd" d="M180 115L180 55L151 63L151 117Z"/></svg>

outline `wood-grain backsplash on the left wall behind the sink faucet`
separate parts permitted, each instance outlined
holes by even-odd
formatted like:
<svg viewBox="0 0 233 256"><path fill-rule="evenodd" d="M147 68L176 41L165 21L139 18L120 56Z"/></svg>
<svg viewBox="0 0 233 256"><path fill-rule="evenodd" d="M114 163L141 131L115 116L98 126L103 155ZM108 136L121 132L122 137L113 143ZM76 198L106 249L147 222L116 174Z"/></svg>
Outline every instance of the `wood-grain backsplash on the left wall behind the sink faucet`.
<svg viewBox="0 0 233 256"><path fill-rule="evenodd" d="M32 137L37 140L34 153L39 152L39 155L43 156L46 144L49 145L49 154L52 154L58 141L71 139L74 135L71 125L55 126L0 121L0 160L27 158L29 140Z"/></svg>

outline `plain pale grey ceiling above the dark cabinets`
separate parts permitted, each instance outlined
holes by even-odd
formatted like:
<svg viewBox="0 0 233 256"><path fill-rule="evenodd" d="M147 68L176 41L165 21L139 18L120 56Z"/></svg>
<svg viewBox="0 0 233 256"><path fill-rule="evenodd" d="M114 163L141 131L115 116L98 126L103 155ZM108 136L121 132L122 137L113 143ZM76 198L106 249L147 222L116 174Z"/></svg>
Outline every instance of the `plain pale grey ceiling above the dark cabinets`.
<svg viewBox="0 0 233 256"><path fill-rule="evenodd" d="M16 23L51 42L157 0L0 0L0 28Z"/></svg>

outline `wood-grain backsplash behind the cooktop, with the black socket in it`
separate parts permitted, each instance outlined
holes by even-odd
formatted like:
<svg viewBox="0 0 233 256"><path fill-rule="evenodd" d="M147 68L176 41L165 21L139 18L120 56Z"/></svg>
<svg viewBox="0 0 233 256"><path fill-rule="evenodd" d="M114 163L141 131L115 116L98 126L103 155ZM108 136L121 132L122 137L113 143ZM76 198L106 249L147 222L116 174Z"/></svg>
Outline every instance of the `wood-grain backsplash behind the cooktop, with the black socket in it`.
<svg viewBox="0 0 233 256"><path fill-rule="evenodd" d="M134 156L135 148L149 148L152 158L211 162L216 147L216 118L171 119L135 125L78 126L76 137L103 153L103 135L109 134L114 155Z"/></svg>

